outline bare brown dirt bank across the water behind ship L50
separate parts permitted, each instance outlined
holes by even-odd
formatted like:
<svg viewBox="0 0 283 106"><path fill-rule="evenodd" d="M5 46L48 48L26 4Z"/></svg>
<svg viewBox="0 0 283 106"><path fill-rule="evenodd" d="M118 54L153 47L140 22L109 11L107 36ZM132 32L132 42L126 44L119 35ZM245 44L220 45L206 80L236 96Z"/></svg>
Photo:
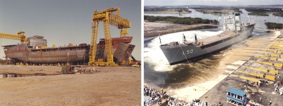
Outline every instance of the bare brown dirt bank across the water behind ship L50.
<svg viewBox="0 0 283 106"><path fill-rule="evenodd" d="M202 26L218 26L210 24L196 24L196 25L181 25L172 23L162 23L162 22L144 22L144 38L155 37L169 33L175 33L186 30L194 30L197 27Z"/></svg>

